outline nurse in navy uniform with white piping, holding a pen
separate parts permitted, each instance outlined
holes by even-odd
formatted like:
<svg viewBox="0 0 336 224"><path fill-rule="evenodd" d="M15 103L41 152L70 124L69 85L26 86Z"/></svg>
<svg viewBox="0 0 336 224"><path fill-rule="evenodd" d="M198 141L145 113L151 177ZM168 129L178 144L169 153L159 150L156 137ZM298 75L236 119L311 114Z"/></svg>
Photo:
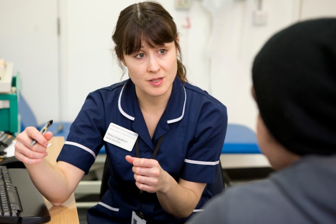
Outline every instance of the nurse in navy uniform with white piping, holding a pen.
<svg viewBox="0 0 336 224"><path fill-rule="evenodd" d="M52 133L34 127L17 136L15 156L61 205L105 146L109 189L88 223L184 223L212 197L226 107L188 83L176 25L159 3L126 7L112 38L129 79L88 94L55 166L44 159Z"/></svg>

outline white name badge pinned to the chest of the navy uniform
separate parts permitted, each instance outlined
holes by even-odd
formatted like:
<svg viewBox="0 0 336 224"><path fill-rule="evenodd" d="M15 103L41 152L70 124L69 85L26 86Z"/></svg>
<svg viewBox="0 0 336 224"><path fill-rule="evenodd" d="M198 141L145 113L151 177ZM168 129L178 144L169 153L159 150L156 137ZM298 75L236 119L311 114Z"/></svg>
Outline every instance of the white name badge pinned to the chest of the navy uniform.
<svg viewBox="0 0 336 224"><path fill-rule="evenodd" d="M110 123L110 126L105 133L104 141L122 149L126 149L127 151L131 151L137 138L137 133L117 124Z"/></svg>

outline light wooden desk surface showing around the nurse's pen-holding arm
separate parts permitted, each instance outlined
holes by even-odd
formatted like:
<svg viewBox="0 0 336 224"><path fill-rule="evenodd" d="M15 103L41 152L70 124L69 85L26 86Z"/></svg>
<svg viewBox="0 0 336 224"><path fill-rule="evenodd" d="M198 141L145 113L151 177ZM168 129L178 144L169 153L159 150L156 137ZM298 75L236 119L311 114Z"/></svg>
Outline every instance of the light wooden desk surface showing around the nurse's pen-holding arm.
<svg viewBox="0 0 336 224"><path fill-rule="evenodd" d="M48 155L46 158L52 164L56 164L56 158L64 145L64 138L53 137L49 143L51 145L47 149ZM53 206L45 198L44 201L51 216L51 221L48 224L79 224L74 194L60 206Z"/></svg>

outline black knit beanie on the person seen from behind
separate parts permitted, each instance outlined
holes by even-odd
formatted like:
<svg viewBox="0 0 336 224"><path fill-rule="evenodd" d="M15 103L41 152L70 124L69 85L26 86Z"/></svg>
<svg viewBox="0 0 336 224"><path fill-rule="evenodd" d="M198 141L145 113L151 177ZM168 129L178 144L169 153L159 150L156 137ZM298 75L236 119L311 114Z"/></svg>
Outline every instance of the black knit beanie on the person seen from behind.
<svg viewBox="0 0 336 224"><path fill-rule="evenodd" d="M336 153L336 18L275 34L256 55L252 80L260 115L286 149Z"/></svg>

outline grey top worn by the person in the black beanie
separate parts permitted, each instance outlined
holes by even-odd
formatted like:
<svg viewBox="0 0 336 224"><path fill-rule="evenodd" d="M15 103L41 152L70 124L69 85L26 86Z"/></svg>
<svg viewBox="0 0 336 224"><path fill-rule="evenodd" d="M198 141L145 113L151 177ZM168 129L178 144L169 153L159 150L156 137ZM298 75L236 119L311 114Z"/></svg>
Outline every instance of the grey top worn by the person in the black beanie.
<svg viewBox="0 0 336 224"><path fill-rule="evenodd" d="M336 155L302 157L262 181L216 196L187 224L335 224Z"/></svg>

